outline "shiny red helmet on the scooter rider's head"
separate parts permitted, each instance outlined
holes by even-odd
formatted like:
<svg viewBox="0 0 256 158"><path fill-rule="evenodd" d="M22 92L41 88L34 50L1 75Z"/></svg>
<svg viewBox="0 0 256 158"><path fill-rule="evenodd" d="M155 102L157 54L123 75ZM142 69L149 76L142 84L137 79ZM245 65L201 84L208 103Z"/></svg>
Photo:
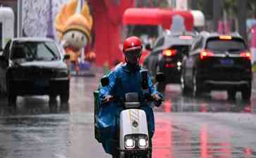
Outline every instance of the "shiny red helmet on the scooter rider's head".
<svg viewBox="0 0 256 158"><path fill-rule="evenodd" d="M126 53L126 51L131 51L135 49L142 50L142 44L138 37L128 37L123 42L123 53Z"/></svg>

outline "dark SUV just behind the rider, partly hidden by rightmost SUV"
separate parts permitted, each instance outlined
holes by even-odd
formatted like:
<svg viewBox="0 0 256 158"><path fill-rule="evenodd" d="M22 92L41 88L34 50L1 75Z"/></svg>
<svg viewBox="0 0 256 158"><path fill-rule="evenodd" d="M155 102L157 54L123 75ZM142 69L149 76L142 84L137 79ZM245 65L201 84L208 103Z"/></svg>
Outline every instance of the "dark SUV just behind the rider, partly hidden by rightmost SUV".
<svg viewBox="0 0 256 158"><path fill-rule="evenodd" d="M180 83L182 58L188 54L195 36L193 32L173 32L157 39L144 65L152 78L157 72L164 72L166 81L157 85L158 91L164 91L166 84Z"/></svg>

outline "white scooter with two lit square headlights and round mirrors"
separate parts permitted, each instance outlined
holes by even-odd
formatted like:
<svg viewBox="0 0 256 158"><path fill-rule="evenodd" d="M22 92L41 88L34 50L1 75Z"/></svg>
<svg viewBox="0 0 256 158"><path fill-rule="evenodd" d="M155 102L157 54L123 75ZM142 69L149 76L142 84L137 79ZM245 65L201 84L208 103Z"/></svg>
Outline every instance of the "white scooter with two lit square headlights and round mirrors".
<svg viewBox="0 0 256 158"><path fill-rule="evenodd" d="M154 99L147 93L147 71L141 72L142 91L145 92L145 102L154 103ZM157 74L157 81L164 80L164 74ZM107 77L102 78L102 86L109 84ZM119 130L114 138L113 158L151 158L152 140L149 136L147 116L139 100L138 93L126 93L125 102L119 100L116 96L110 101L121 101L123 110L120 114ZM95 135L96 138L96 135Z"/></svg>

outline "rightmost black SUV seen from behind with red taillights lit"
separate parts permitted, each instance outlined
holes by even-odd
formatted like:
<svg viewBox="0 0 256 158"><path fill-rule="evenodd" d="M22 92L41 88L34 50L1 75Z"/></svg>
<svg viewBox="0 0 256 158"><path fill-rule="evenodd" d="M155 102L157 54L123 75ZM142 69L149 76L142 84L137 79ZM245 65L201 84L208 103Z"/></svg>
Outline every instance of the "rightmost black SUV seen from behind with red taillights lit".
<svg viewBox="0 0 256 158"><path fill-rule="evenodd" d="M204 91L226 90L228 98L233 99L241 91L243 100L250 100L251 87L251 54L238 34L204 32L183 58L183 93L192 89L197 96Z"/></svg>

